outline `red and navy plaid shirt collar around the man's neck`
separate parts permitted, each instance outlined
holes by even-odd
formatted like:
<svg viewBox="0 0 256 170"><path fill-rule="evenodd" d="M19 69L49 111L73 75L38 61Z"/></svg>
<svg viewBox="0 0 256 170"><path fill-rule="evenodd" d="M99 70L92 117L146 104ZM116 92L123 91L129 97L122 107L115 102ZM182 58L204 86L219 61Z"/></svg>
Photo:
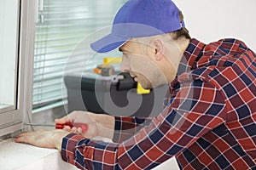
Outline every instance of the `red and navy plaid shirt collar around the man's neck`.
<svg viewBox="0 0 256 170"><path fill-rule="evenodd" d="M205 47L205 43L193 38L189 42L189 46L183 54L183 57L178 65L177 77L183 72L192 71L195 69L196 62L202 56L202 50Z"/></svg>

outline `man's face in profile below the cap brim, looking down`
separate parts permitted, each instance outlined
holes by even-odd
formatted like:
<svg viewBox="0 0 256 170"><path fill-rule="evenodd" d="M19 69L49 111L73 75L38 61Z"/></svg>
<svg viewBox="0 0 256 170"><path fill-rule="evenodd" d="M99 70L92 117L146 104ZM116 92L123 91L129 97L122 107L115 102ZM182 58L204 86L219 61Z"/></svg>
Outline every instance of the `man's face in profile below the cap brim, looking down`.
<svg viewBox="0 0 256 170"><path fill-rule="evenodd" d="M145 42L130 40L119 50L123 53L121 69L128 71L145 89L167 83L161 65L154 58L154 48Z"/></svg>

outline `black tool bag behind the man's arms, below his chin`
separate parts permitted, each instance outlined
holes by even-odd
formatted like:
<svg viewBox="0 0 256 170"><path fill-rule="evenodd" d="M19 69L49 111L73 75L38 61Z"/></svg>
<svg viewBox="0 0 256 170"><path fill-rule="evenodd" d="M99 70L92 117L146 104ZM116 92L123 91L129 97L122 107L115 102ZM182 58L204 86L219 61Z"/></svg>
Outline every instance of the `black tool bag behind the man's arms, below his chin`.
<svg viewBox="0 0 256 170"><path fill-rule="evenodd" d="M129 73L111 77L64 78L68 112L91 111L113 116L157 116L163 110L167 85L137 94L137 82Z"/></svg>

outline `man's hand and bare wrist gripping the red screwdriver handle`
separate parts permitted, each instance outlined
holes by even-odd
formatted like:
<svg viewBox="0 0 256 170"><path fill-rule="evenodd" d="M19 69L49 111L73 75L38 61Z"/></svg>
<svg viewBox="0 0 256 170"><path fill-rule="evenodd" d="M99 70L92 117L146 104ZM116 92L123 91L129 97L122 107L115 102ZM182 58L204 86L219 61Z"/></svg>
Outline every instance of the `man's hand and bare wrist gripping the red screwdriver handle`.
<svg viewBox="0 0 256 170"><path fill-rule="evenodd" d="M94 114L88 111L73 111L61 119L55 119L56 123L65 124L67 122L82 123L88 126L86 132L82 127L64 127L64 130L72 133L78 133L86 138L94 138L96 136L113 138L114 117L105 114Z"/></svg>

